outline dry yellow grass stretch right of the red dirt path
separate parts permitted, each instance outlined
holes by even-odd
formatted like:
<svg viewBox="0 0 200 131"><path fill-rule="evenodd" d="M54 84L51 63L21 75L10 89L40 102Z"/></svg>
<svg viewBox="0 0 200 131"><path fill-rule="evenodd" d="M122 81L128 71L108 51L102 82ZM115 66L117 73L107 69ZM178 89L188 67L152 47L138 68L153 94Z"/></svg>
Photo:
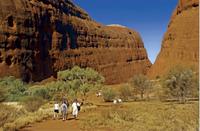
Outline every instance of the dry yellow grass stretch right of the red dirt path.
<svg viewBox="0 0 200 131"><path fill-rule="evenodd" d="M82 121L83 130L110 128L115 131L196 131L198 103L161 102L127 103L89 115Z"/></svg>

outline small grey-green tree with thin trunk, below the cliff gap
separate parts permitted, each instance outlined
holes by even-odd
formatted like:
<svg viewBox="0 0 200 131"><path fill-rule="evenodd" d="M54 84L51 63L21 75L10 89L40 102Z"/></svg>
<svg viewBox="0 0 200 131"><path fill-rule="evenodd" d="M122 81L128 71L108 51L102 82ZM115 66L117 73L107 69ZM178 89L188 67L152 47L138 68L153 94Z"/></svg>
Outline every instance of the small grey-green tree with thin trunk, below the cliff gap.
<svg viewBox="0 0 200 131"><path fill-rule="evenodd" d="M136 75L131 81L134 92L140 94L141 99L144 99L144 94L151 88L151 82L144 75Z"/></svg>

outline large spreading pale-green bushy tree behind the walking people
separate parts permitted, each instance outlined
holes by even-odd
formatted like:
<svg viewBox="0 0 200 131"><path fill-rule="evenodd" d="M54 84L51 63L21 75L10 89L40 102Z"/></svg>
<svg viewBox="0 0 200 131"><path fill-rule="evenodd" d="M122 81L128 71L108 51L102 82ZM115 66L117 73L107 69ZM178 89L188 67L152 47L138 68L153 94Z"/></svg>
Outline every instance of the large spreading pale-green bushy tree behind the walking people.
<svg viewBox="0 0 200 131"><path fill-rule="evenodd" d="M67 83L67 93L77 95L80 92L87 98L89 91L101 87L104 77L91 68L73 67L71 70L58 72L58 80Z"/></svg>

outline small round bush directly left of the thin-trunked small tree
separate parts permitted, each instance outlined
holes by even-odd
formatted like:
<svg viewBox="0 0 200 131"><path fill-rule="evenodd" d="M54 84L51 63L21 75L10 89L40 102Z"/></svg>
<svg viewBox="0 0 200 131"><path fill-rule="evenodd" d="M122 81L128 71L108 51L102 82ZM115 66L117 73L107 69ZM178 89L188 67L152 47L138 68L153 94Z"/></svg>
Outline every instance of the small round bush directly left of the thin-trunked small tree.
<svg viewBox="0 0 200 131"><path fill-rule="evenodd" d="M133 93L132 93L131 88L128 85L120 87L120 89L119 89L119 96L124 101L129 100L130 98L133 97Z"/></svg>

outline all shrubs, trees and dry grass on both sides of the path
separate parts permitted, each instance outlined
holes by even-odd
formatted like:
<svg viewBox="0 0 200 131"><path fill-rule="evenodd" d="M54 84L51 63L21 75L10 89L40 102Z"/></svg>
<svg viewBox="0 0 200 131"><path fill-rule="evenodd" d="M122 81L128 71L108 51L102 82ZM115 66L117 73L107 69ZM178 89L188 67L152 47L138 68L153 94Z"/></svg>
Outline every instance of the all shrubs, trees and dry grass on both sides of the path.
<svg viewBox="0 0 200 131"><path fill-rule="evenodd" d="M1 79L0 126L9 131L41 122L52 116L53 101L63 98L72 101L78 97L93 103L95 93L100 90L102 96L95 99L108 107L96 106L93 113L81 120L82 130L198 128L198 102L189 101L189 98L198 98L198 75L192 70L174 68L156 80L135 75L128 83L106 86L98 72L77 66L58 72L57 79L45 84L27 84L14 77ZM123 103L111 103L119 98Z"/></svg>

